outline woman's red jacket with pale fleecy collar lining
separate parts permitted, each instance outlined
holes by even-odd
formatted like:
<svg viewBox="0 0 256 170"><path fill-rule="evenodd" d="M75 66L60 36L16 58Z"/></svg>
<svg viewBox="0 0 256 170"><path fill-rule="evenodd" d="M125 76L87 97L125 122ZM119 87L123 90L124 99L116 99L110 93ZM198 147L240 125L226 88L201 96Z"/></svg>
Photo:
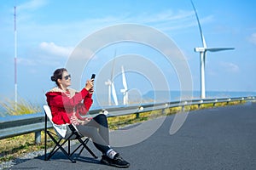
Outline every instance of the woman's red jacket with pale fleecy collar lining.
<svg viewBox="0 0 256 170"><path fill-rule="evenodd" d="M68 91L71 98L60 88L52 88L45 94L55 124L70 124L73 112L80 120L84 120L80 115L84 116L92 105L91 94L85 88L80 92L71 88Z"/></svg>

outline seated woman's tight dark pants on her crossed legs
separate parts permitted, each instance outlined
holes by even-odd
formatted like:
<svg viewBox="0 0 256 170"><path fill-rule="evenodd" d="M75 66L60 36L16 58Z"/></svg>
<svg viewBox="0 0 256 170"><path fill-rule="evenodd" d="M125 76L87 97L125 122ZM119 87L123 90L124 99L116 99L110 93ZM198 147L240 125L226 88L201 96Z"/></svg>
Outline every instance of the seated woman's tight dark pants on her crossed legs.
<svg viewBox="0 0 256 170"><path fill-rule="evenodd" d="M102 151L102 154L106 154L110 149L107 116L97 115L87 124L77 125L76 127L79 133L92 139L93 144L98 150Z"/></svg>

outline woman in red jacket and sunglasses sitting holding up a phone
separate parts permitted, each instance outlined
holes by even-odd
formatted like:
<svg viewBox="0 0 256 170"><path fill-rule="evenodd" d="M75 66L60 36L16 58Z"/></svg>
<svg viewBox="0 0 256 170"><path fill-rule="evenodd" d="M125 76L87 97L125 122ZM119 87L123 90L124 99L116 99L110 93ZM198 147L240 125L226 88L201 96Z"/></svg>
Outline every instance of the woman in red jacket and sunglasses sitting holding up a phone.
<svg viewBox="0 0 256 170"><path fill-rule="evenodd" d="M57 85L46 94L52 111L52 121L58 125L72 123L79 133L90 137L96 148L102 152L102 163L114 167L129 167L130 164L109 145L107 116L100 114L91 119L80 116L85 115L92 105L94 80L88 80L80 92L68 88L71 85L71 76L65 68L57 69L51 80Z"/></svg>

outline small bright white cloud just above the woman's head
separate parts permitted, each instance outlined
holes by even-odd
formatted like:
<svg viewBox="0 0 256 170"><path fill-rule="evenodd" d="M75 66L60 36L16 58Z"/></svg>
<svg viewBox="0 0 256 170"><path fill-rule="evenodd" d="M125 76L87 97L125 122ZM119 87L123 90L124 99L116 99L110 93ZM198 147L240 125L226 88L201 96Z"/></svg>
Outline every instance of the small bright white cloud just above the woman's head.
<svg viewBox="0 0 256 170"><path fill-rule="evenodd" d="M68 55L73 51L72 47L57 46L54 42L41 42L39 48L47 54L53 54L61 57L68 57Z"/></svg>

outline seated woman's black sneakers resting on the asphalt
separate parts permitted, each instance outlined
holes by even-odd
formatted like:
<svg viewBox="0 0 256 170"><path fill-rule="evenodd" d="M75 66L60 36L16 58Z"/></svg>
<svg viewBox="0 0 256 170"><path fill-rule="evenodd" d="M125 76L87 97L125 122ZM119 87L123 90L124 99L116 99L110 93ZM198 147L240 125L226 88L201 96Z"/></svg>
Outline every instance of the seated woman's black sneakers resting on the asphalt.
<svg viewBox="0 0 256 170"><path fill-rule="evenodd" d="M113 159L110 159L108 156L103 155L101 162L113 167L125 168L130 166L130 163L125 161L121 156L119 156L119 154L116 154Z"/></svg>

